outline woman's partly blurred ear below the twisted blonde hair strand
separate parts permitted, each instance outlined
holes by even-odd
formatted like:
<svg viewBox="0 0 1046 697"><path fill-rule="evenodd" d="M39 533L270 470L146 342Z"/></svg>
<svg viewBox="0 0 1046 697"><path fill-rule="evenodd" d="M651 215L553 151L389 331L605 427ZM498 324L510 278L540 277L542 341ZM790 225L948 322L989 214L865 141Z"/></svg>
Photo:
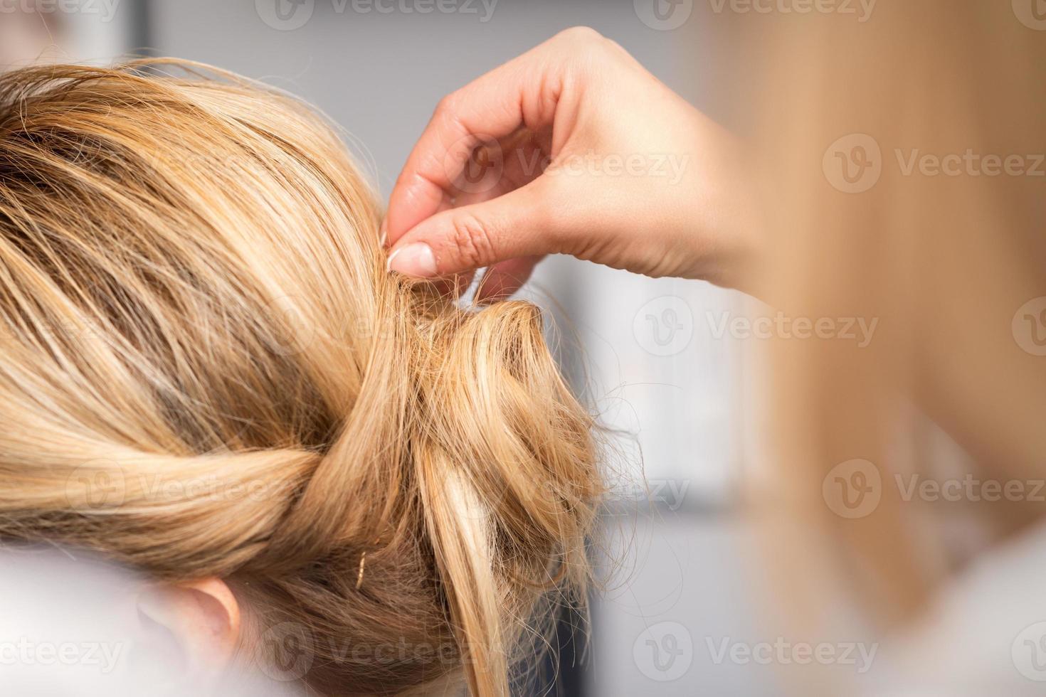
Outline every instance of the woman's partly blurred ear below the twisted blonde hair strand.
<svg viewBox="0 0 1046 697"><path fill-rule="evenodd" d="M240 604L221 579L152 586L139 595L138 611L169 634L194 672L224 668L236 650Z"/></svg>

